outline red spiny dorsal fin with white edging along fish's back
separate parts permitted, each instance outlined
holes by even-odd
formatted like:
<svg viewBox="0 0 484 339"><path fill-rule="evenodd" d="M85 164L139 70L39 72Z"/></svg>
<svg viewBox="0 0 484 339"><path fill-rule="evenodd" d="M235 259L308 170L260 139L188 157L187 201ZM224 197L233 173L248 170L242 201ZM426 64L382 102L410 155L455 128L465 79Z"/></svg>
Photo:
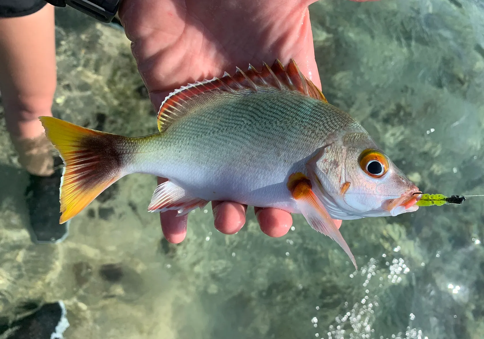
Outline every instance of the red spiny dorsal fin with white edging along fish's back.
<svg viewBox="0 0 484 339"><path fill-rule="evenodd" d="M246 72L239 67L233 76L227 72L221 78L213 77L211 80L195 81L193 84L182 86L179 90L170 93L158 112L158 129L166 129L182 116L189 113L187 103L196 100L198 95L207 92L237 93L250 90L257 92L259 88L277 88L298 91L312 98L328 102L316 85L304 77L294 59L291 58L286 68L276 59L269 67L263 63L262 70L258 72L251 64Z"/></svg>

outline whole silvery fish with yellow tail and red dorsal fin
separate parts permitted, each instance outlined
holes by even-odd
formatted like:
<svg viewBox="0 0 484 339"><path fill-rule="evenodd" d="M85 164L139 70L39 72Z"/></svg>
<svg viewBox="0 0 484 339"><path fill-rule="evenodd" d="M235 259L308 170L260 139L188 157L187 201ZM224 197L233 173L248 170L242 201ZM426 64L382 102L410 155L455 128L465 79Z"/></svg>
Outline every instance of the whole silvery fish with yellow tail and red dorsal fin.
<svg viewBox="0 0 484 339"><path fill-rule="evenodd" d="M356 261L333 219L414 212L420 192L368 132L334 107L290 59L171 92L159 132L130 138L40 117L64 161L61 217L80 213L121 177L166 178L148 206L177 216L223 200L302 214Z"/></svg>

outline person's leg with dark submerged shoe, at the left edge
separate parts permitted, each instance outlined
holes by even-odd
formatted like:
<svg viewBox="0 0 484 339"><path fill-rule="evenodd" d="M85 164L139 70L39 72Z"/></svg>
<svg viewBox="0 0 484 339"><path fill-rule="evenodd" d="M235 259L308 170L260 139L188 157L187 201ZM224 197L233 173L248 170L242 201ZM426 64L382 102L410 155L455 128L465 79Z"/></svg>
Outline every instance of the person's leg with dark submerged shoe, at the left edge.
<svg viewBox="0 0 484 339"><path fill-rule="evenodd" d="M36 6L39 2L30 1ZM66 224L59 224L61 171L53 169L52 144L38 120L52 115L55 53L50 4L30 15L0 18L0 91L19 163L30 172L26 202L32 240L37 243L61 241L68 231Z"/></svg>

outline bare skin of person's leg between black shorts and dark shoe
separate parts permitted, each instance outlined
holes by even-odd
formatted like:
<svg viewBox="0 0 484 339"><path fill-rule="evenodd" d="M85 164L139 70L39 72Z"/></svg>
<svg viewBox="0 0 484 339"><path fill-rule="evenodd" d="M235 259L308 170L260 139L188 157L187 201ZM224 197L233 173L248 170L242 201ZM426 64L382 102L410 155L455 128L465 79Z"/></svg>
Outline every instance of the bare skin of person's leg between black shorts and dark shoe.
<svg viewBox="0 0 484 339"><path fill-rule="evenodd" d="M0 91L19 162L31 174L53 173L51 144L37 119L51 116L56 89L54 7L0 18Z"/></svg>

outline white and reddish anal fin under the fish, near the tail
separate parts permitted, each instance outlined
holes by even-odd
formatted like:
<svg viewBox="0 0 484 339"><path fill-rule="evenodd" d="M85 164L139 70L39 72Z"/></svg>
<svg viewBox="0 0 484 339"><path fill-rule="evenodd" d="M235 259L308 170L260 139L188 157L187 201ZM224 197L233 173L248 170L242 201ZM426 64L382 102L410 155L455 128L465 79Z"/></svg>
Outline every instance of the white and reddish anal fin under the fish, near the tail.
<svg viewBox="0 0 484 339"><path fill-rule="evenodd" d="M156 187L151 197L149 212L178 211L177 216L184 216L197 207L203 208L207 200L196 198L188 194L183 188L166 181Z"/></svg>

